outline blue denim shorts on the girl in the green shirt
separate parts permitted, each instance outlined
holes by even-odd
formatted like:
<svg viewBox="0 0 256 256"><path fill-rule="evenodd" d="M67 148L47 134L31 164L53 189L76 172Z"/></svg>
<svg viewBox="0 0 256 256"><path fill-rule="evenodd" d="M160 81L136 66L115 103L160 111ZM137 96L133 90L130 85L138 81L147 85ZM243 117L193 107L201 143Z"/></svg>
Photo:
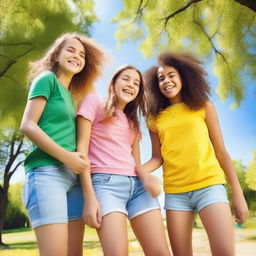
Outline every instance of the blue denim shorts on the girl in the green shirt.
<svg viewBox="0 0 256 256"><path fill-rule="evenodd" d="M82 218L84 200L78 175L64 165L30 170L23 201L33 228Z"/></svg>

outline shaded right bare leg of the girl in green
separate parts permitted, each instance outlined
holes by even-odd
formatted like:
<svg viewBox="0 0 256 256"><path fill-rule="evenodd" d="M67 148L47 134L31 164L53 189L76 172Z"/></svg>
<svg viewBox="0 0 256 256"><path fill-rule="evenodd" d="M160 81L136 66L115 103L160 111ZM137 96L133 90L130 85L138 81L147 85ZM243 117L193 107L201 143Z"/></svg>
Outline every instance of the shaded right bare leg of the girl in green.
<svg viewBox="0 0 256 256"><path fill-rule="evenodd" d="M73 220L68 223L68 256L83 256L84 222Z"/></svg>

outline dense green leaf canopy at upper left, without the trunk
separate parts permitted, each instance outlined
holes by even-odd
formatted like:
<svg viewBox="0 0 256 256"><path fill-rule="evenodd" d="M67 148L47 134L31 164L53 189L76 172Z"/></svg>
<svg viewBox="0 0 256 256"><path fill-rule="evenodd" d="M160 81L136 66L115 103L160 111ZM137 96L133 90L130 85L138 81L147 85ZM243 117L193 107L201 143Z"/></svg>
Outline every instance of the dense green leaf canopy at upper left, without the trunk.
<svg viewBox="0 0 256 256"><path fill-rule="evenodd" d="M20 122L27 97L28 63L60 34L88 34L96 21L93 1L2 0L0 2L0 116Z"/></svg>

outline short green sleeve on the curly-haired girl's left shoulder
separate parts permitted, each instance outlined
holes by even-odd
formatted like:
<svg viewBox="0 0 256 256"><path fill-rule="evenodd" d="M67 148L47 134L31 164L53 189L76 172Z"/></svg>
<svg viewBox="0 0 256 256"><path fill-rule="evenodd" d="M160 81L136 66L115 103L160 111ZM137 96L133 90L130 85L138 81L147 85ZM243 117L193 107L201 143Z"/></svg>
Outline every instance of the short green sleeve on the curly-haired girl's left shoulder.
<svg viewBox="0 0 256 256"><path fill-rule="evenodd" d="M43 96L47 100L54 90L55 75L50 71L42 72L31 83L28 99Z"/></svg>

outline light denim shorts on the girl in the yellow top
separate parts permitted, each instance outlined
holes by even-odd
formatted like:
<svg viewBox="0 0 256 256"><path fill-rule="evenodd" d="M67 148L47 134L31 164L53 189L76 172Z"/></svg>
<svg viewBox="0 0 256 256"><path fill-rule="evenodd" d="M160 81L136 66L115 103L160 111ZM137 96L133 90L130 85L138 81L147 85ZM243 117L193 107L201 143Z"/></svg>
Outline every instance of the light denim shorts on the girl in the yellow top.
<svg viewBox="0 0 256 256"><path fill-rule="evenodd" d="M214 203L229 203L224 185L213 185L186 193L166 193L165 209L199 212Z"/></svg>

